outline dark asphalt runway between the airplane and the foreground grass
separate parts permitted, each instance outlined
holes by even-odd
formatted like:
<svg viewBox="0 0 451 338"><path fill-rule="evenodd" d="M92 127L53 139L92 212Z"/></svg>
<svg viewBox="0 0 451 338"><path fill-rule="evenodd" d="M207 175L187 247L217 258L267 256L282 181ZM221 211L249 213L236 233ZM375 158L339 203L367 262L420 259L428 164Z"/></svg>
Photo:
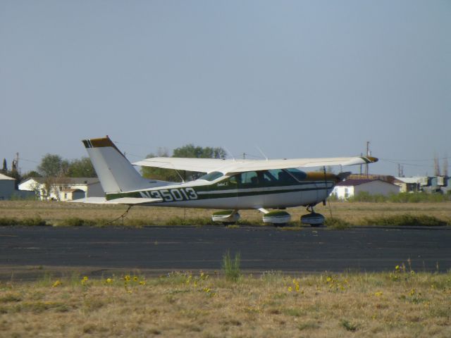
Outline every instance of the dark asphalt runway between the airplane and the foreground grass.
<svg viewBox="0 0 451 338"><path fill-rule="evenodd" d="M41 270L221 270L223 254L241 254L249 273L280 270L384 271L451 269L450 227L1 227L0 279L30 279Z"/></svg>

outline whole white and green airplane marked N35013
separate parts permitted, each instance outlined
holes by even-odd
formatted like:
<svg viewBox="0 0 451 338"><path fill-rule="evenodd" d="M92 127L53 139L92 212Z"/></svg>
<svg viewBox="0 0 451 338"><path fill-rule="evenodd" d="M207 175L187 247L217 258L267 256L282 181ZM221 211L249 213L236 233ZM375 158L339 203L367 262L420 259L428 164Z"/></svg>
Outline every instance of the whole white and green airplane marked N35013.
<svg viewBox="0 0 451 338"><path fill-rule="evenodd" d="M240 209L255 209L264 214L264 223L283 225L291 219L285 208L306 206L309 214L302 216L302 223L320 225L324 217L314 212L314 206L325 203L335 184L349 173L334 175L326 173L326 170L323 173L306 173L298 168L359 165L378 161L369 156L281 160L156 157L133 163L206 173L191 182L165 182L142 177L108 136L82 142L106 197L78 201L125 204L130 207L224 209L214 213L212 220L225 224L235 223L240 218Z"/></svg>

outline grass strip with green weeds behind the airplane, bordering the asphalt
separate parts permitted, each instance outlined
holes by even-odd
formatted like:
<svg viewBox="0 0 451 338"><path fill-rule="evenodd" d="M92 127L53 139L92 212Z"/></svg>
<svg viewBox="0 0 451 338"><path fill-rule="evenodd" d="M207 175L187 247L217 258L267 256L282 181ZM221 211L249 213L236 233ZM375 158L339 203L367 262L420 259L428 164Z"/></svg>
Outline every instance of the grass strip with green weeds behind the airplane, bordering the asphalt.
<svg viewBox="0 0 451 338"><path fill-rule="evenodd" d="M211 214L217 210L134 206L128 215L120 216L126 206L75 204L56 201L0 201L1 225L109 226L142 227L148 225L211 225ZM335 202L316 206L326 216L326 225L345 229L356 225L443 225L451 224L451 202L440 203L368 203ZM299 227L305 208L289 208L292 230ZM240 211L238 225L264 225L259 211ZM332 217L331 215L332 214ZM281 228L283 229L283 227Z"/></svg>

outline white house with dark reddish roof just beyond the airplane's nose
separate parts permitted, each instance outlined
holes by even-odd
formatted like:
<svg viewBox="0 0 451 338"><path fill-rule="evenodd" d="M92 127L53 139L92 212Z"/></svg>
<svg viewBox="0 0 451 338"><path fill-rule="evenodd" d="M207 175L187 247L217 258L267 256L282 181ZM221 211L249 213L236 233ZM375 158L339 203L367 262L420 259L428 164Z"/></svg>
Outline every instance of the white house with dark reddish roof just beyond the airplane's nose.
<svg viewBox="0 0 451 338"><path fill-rule="evenodd" d="M338 199L349 199L351 196L359 194L359 192L388 196L390 194L398 194L400 187L378 179L344 180L335 185L332 195Z"/></svg>

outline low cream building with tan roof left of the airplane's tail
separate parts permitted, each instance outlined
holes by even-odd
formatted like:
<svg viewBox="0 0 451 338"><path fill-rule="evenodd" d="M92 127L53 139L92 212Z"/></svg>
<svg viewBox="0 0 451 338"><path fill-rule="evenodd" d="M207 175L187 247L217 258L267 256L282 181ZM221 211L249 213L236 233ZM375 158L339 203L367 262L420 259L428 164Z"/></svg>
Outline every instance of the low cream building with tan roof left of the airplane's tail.
<svg viewBox="0 0 451 338"><path fill-rule="evenodd" d="M105 196L97 177L30 177L19 184L19 189L35 192L38 199L54 201Z"/></svg>

